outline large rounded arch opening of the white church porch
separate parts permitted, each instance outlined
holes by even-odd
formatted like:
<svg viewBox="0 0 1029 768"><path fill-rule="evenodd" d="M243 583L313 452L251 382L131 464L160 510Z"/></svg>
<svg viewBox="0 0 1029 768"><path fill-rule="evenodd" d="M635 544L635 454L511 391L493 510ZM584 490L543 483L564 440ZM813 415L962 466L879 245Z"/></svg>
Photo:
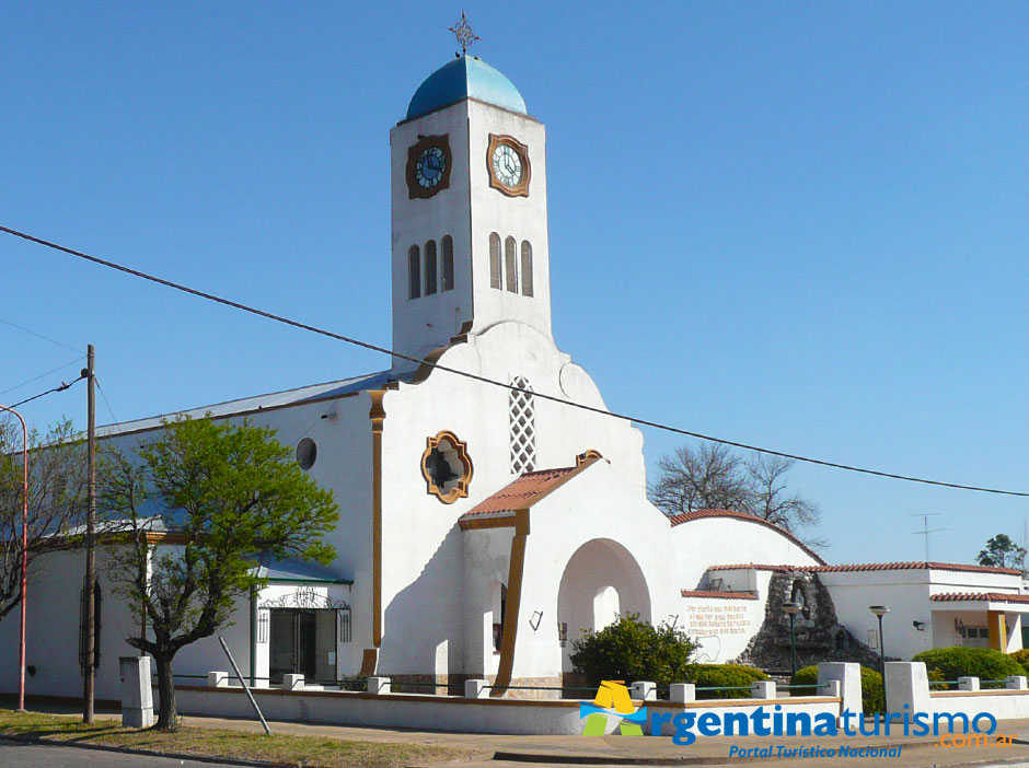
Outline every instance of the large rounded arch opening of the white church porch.
<svg viewBox="0 0 1029 768"><path fill-rule="evenodd" d="M582 630L603 629L616 616L650 621L650 590L636 558L617 542L594 538L575 550L557 590L562 671L571 672L571 644Z"/></svg>

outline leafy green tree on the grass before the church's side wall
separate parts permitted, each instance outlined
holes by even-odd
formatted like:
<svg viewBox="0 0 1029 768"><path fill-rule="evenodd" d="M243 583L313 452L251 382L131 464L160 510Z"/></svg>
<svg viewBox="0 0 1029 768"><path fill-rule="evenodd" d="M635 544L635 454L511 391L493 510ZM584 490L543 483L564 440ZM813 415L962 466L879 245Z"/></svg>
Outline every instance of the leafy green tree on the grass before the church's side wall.
<svg viewBox="0 0 1029 768"><path fill-rule="evenodd" d="M127 641L157 665L159 729L177 728L175 654L228 625L235 602L264 585L256 552L334 557L323 540L338 519L332 492L297 466L274 430L246 422L182 418L134 455L108 452L100 507L122 539L111 578L150 629Z"/></svg>

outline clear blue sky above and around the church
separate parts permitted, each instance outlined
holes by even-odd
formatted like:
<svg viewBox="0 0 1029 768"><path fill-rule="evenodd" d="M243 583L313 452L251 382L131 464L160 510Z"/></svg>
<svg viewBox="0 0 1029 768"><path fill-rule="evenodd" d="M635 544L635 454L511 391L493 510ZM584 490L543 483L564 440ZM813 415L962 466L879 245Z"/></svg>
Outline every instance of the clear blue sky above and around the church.
<svg viewBox="0 0 1029 768"><path fill-rule="evenodd" d="M465 8L547 125L555 336L612 409L1029 490L1029 5ZM0 223L388 345L389 129L460 11L9 3ZM96 345L118 420L388 366L10 236L0 259L0 319ZM76 357L2 324L0 352L0 389ZM81 424L84 389L25 412ZM678 442L647 430L649 466ZM921 512L969 561L1029 513L791 475L837 562L921 559Z"/></svg>

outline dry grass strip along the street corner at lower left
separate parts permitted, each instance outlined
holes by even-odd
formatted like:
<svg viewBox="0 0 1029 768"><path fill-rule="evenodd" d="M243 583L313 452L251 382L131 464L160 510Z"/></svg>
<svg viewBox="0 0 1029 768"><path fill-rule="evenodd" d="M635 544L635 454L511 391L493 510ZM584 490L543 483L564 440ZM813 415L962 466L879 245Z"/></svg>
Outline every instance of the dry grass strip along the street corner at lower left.
<svg viewBox="0 0 1029 768"><path fill-rule="evenodd" d="M0 709L0 736L95 744L153 753L263 760L303 768L400 768L466 758L471 750L428 744L344 741L320 736L265 736L185 726L174 733L123 729L116 721L84 724L78 717Z"/></svg>

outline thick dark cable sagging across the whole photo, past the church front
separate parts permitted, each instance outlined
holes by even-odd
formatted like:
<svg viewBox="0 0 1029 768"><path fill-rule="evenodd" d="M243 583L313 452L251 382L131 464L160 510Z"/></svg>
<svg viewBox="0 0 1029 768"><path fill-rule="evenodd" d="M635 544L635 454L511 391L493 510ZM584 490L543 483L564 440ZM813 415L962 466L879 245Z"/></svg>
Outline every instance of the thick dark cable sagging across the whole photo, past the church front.
<svg viewBox="0 0 1029 768"><path fill-rule="evenodd" d="M344 341L355 347L360 347L362 349L368 349L373 352L380 352L382 354L390 354L394 358L400 358L401 360L407 360L409 362L418 363L419 365L427 365L431 369L438 371L444 371L447 373L453 373L459 376L464 376L465 379L471 379L483 384L489 384L490 386L497 386L501 389L509 389L511 392L521 392L521 388L514 386L513 384L506 384L505 382L499 382L494 379L488 379L487 376L482 376L476 373L471 373L469 371L461 371L459 369L450 368L449 365L441 365L438 362L425 360L423 358L416 358L409 354L404 354L403 352L396 352L388 347L380 347L368 341L361 341L349 336L344 336L342 334L336 334L332 330L326 330L325 328L320 328L314 325L309 325L307 323L301 323L299 321L291 319L289 317L284 317L282 315L276 315L271 312L266 312L265 310L258 310L247 304L242 304L231 299L224 299L223 296L216 295L213 293L207 293L206 291L200 291L195 288L189 288L188 286L183 286L182 283L173 282L171 280L165 280L164 278L157 277L154 275L149 275L147 272L140 271L138 269L132 269L131 267L126 267L115 261L108 261L96 256L91 256L90 254L83 253L81 251L76 251L73 248L59 245L58 243L53 243L48 240L43 240L42 237L36 237L34 235L27 234L25 232L20 232L18 230L12 230L8 226L0 225L0 232L5 232L7 234L14 235L15 237L21 237L22 240L27 240L30 243L36 243L37 245L43 245L47 248L53 248L55 251L60 251L61 253L69 254L70 256L76 256L77 258L85 259L86 261L92 261L93 264L99 264L108 269L114 269L119 272L125 272L126 275L131 275L132 277L138 277L143 280L149 280L150 282L155 282L159 286L164 286L165 288L172 288L176 291L182 291L183 293L188 293L190 295L199 296L200 299L206 299L212 301L217 304L223 304L226 306L231 306L234 310L241 310L242 312L248 312L252 315L257 315L258 317L264 317L266 319L275 321L276 323L282 323L284 325L289 325L294 328L300 328L301 330L308 330L312 334L319 334L320 336L326 336L337 341ZM703 440L710 443L718 443L720 445L729 445L731 447L742 449L744 451L753 451L755 453L763 453L771 456L781 456L782 458L788 458L795 462L802 462L805 464L813 464L816 466L830 467L832 469L843 469L846 472L860 473L863 475L871 475L875 477L883 477L891 480L904 480L906 482L920 482L927 486L937 486L941 488L953 488L957 490L969 490L976 491L980 493L996 493L999 496L1015 496L1021 498L1029 498L1029 492L1025 491L1013 491L1013 490L1003 490L998 488L985 488L981 486L967 486L960 482L946 482L944 480L930 480L923 477L913 477L911 475L900 475L898 473L891 472L881 472L878 469L868 469L865 467L854 466L852 464L842 464L840 462L829 462L821 458L812 458L810 456L802 456L800 454L787 453L785 451L775 451L772 449L761 447L759 445L751 445L749 443L741 443L735 440L725 440L722 438L716 438L709 434L703 434L701 432L693 432L691 430L680 429L678 427L671 427L669 424L661 423L659 421L650 421L648 419L640 419L634 416L628 416L626 414L618 414L615 411L604 410L603 408L597 408L594 406L586 405L585 403L574 403L573 400L566 400L562 397L556 397L555 395L546 395L543 393L534 392L535 397L540 397L545 400L552 400L560 405L569 406L571 408L579 408L580 410L590 411L593 414L599 414L601 416L606 416L613 419L620 419L622 421L628 421L644 427L651 427L654 429L662 430L664 432L671 432L673 434L680 434L686 438L694 438L696 440Z"/></svg>

